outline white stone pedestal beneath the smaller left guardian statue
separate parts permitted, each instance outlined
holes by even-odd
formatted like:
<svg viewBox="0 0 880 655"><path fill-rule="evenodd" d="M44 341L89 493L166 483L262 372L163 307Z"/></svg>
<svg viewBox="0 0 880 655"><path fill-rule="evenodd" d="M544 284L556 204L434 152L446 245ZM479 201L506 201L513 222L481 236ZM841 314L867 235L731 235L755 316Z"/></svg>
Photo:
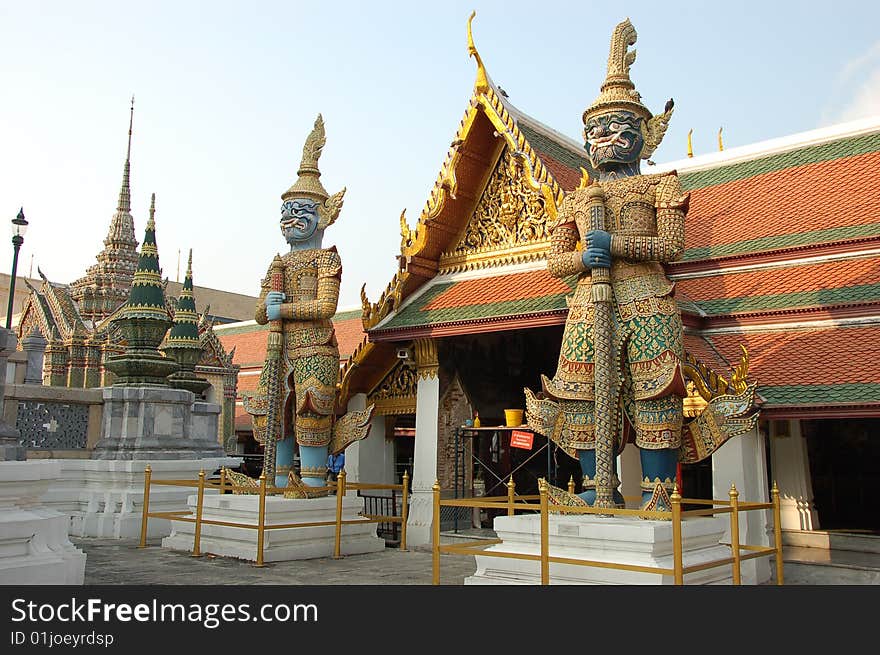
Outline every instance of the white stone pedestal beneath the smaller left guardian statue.
<svg viewBox="0 0 880 655"><path fill-rule="evenodd" d="M206 497L202 507L203 520L229 521L256 526L259 519L259 496L232 495ZM196 496L189 499L195 517ZM357 520L364 500L356 495L342 499L342 519ZM336 496L305 500L269 496L266 498L266 525L311 523L336 520ZM162 540L163 548L192 551L194 523L174 521L171 536ZM342 555L375 553L385 549L385 540L376 536L376 523L367 522L342 526ZM297 559L332 557L335 525L266 530L263 537L263 561L283 562ZM203 553L256 561L257 530L221 525L202 525L200 547Z"/></svg>

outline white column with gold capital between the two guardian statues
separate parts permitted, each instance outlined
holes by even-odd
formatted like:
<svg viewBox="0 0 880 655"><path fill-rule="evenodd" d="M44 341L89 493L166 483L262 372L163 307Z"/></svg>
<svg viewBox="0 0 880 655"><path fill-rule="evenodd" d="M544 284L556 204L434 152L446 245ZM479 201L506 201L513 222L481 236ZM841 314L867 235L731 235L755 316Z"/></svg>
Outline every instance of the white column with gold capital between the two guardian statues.
<svg viewBox="0 0 880 655"><path fill-rule="evenodd" d="M415 342L418 386L416 391L416 440L413 455L412 494L407 521L407 544L431 544L434 492L437 479L437 438L440 420L440 378L437 375L437 342Z"/></svg>

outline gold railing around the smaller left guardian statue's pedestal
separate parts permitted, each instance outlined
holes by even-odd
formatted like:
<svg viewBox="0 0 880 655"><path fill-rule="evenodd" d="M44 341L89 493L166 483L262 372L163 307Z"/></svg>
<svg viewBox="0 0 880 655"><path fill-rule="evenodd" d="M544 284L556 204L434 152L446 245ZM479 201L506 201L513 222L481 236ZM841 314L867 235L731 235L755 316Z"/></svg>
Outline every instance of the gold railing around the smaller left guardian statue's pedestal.
<svg viewBox="0 0 880 655"><path fill-rule="evenodd" d="M174 512L151 512L150 511L150 487L152 485L167 485L173 487L195 487L197 489L196 511L195 517L191 516L191 510L179 510ZM202 510L205 500L206 489L217 489L221 494L225 493L244 493L259 496L259 510L257 514L257 523L235 523L232 521L218 521L215 519L206 519L202 516ZM147 521L150 518L167 519L169 521L183 521L185 523L195 523L193 534L193 557L200 557L202 553L201 537L203 525L220 525L230 528L248 528L257 531L257 556L255 566L264 566L263 562L263 546L265 534L267 530L281 530L288 528L309 528L318 526L335 526L336 532L333 543L333 558L341 559L341 538L343 525L361 525L363 523L400 523L400 550L406 550L406 520L409 513L409 474L404 472L402 484L373 484L353 482L346 483L345 471L340 471L335 482L331 482L324 487L312 487L313 490L335 490L336 493L336 518L333 521L309 521L298 523L267 523L266 522L266 497L283 494L289 491L284 487L269 486L266 484L266 476L261 475L259 478L259 489L254 490L253 487L245 487L233 485L226 479L226 471L220 469L219 480L205 479L205 471L199 472L198 480L153 480L152 469L147 466L144 469L144 509L141 517L141 540L139 548L147 546ZM391 489L402 492L403 507L400 516L383 516L378 514L364 514L358 519L342 518L342 499L348 491L362 489Z"/></svg>

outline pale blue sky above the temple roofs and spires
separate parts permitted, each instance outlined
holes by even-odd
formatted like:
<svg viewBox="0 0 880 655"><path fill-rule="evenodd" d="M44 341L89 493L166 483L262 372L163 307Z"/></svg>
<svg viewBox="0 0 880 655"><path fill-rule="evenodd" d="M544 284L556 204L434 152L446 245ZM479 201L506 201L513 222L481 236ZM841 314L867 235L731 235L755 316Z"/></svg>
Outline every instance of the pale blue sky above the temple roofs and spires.
<svg viewBox="0 0 880 655"><path fill-rule="evenodd" d="M510 102L581 141L614 26L638 32L630 74L655 113L652 159L880 117L880 3L444 0L0 0L0 220L29 221L18 272L72 282L115 210L135 96L132 215L150 194L163 275L256 295L288 249L281 193L324 117L321 181L347 188L324 246L342 257L339 308L375 302L397 270L471 97L467 19ZM11 236L10 232L6 233ZM11 272L13 248L0 246ZM178 262L179 265L178 265Z"/></svg>

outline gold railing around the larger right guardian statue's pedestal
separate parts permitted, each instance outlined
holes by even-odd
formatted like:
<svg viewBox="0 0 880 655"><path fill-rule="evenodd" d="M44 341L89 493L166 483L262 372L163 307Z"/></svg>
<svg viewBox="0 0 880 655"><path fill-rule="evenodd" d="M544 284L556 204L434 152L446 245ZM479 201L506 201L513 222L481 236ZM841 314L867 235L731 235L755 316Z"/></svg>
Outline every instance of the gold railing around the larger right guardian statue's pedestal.
<svg viewBox="0 0 880 655"><path fill-rule="evenodd" d="M573 493L574 483L569 482L569 492ZM507 483L506 496L490 496L481 497L479 500L474 498L457 498L440 500L440 484L434 482L432 487L434 491L434 517L433 517L433 579L435 585L440 584L440 553L451 553L456 555L482 555L487 557L506 557L513 559L524 559L540 562L541 568L541 584L550 584L550 563L558 564L575 564L579 566L593 566L605 569L617 569L621 571L635 571L640 573L659 573L661 575L671 575L676 585L684 584L684 576L688 573L695 573L705 569L715 568L730 564L733 570L733 584L741 584L741 565L744 560L755 559L758 557L775 556L776 558L776 584L784 584L782 570L782 528L780 523L779 510L779 488L773 483L771 490L772 502L769 503L743 503L739 501L739 492L734 485L730 486L729 500L703 500L696 498L682 498L676 487L670 495L671 511L646 511L635 509L607 509L593 507L569 507L563 505L555 505L549 501L549 485L543 478L538 484L538 495L519 496L516 497L514 482L511 479ZM537 500L538 504L528 501ZM689 505L708 505L709 507L682 510L682 504ZM459 544L440 544L440 507L476 507L481 509L507 509L507 515L513 516L516 511L540 513L541 524L541 554L529 553L512 553L505 551L487 551L484 550L488 546L503 543L501 539L478 539ZM742 512L752 510L772 509L773 510L773 546L760 546L739 543L739 515ZM672 560L673 567L652 567L639 566L634 564L622 564L617 562L592 561L584 559L576 559L571 557L555 557L550 555L550 531L549 531L549 515L550 512L563 514L601 514L603 516L637 516L644 519L659 519L672 522ZM683 564L682 551L682 520L695 516L714 516L716 514L730 514L730 550L731 556L721 559L702 562L690 566ZM746 552L743 552L746 551Z"/></svg>

